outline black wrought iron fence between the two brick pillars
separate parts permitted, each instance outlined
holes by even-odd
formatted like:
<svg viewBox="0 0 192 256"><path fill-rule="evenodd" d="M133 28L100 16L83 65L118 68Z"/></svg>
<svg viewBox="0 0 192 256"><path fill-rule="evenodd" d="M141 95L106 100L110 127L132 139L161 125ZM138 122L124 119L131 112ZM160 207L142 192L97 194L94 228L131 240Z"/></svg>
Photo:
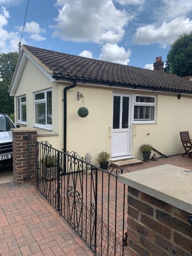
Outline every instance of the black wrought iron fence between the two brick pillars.
<svg viewBox="0 0 192 256"><path fill-rule="evenodd" d="M124 256L125 185L119 166L103 170L75 152L27 138L28 179L95 255Z"/></svg>

